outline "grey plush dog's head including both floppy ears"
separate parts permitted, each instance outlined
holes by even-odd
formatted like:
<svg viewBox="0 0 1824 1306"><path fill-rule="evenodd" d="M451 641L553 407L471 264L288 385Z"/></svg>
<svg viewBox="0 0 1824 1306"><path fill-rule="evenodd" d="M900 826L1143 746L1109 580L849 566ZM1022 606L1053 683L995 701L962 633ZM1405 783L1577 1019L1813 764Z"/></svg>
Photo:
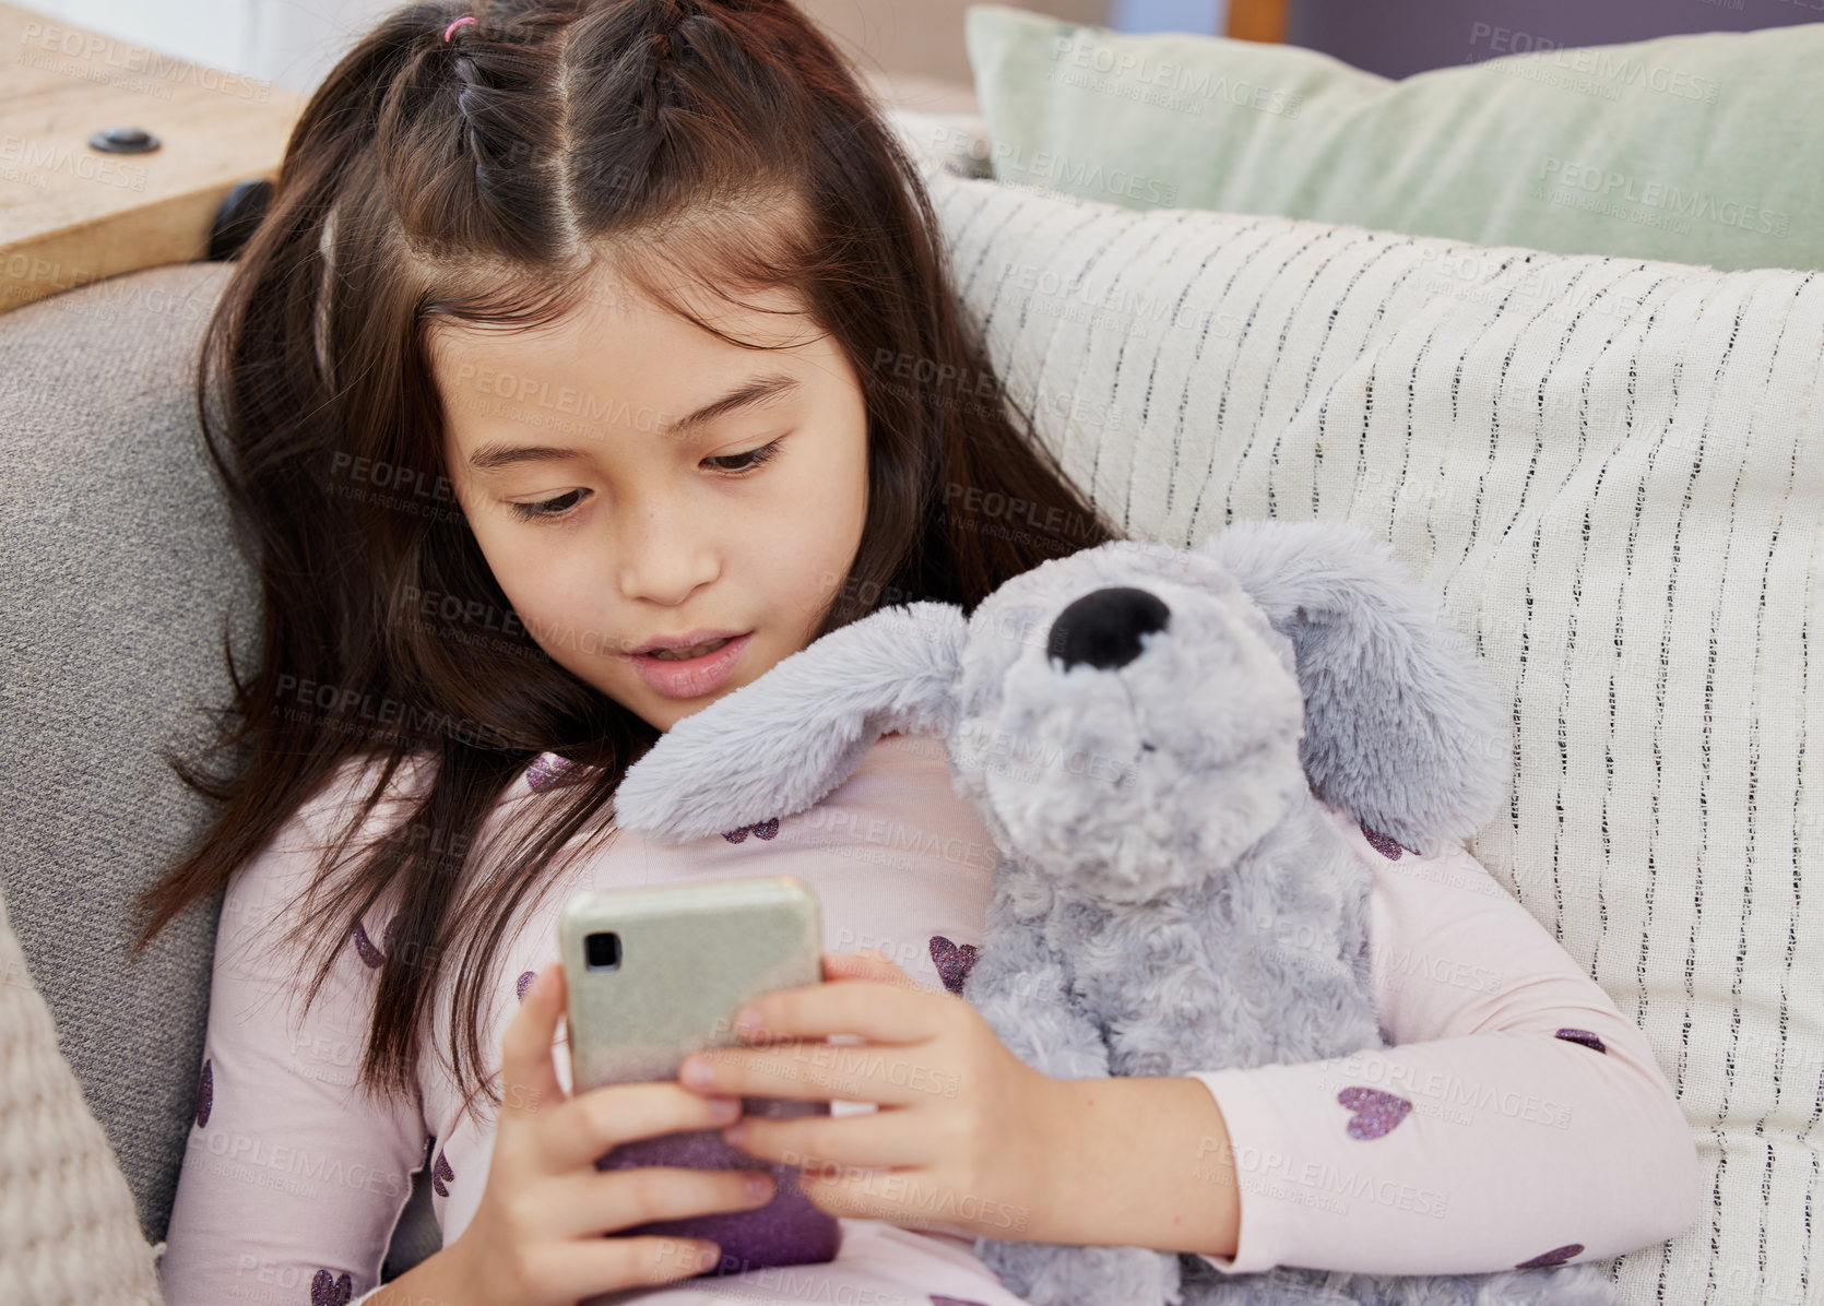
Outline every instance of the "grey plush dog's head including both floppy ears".
<svg viewBox="0 0 1824 1306"><path fill-rule="evenodd" d="M677 722L615 795L658 841L788 815L888 731L945 739L1003 852L1107 901L1233 861L1306 784L1417 852L1474 834L1507 730L1441 604L1366 531L1116 540L974 613L886 607Z"/></svg>

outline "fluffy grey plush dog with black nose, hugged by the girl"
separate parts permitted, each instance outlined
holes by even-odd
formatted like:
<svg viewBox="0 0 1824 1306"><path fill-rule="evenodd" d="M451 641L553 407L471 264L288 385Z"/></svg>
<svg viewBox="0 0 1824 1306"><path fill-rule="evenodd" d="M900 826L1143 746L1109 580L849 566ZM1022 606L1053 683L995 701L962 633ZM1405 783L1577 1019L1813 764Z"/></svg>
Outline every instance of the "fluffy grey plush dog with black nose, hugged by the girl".
<svg viewBox="0 0 1824 1306"><path fill-rule="evenodd" d="M967 617L914 602L832 631L677 722L617 819L688 841L801 812L890 730L943 737L1000 852L963 998L1056 1078L1384 1047L1372 874L1321 803L1432 854L1508 777L1474 651L1381 542L1240 522L1195 549L1052 558ZM976 1251L1038 1306L1622 1301L1589 1264L1222 1275L1145 1248Z"/></svg>

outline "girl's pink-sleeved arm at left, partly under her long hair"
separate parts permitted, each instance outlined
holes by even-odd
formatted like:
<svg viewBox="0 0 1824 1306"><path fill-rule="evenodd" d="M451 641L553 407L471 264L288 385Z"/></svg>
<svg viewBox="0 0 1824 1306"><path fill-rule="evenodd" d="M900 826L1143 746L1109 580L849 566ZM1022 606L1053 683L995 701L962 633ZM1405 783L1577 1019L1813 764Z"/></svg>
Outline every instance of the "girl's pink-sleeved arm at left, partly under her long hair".
<svg viewBox="0 0 1824 1306"><path fill-rule="evenodd" d="M275 939L314 872L321 808L323 795L306 803L223 897L197 1114L159 1266L170 1302L359 1301L425 1160L416 1100L354 1089L379 970L352 941L294 1021L305 967ZM378 947L385 919L370 925Z"/></svg>

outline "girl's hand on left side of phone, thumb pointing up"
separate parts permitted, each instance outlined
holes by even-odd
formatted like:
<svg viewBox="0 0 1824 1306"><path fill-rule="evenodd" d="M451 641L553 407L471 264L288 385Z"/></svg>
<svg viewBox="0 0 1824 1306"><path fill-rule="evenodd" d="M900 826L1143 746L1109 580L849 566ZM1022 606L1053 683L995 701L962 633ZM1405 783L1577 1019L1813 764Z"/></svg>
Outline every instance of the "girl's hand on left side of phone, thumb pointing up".
<svg viewBox="0 0 1824 1306"><path fill-rule="evenodd" d="M677 1083L617 1083L569 1096L558 1083L553 1038L564 1011L564 965L551 961L525 992L502 1038L502 1104L487 1186L474 1220L449 1251L461 1301L500 1306L575 1306L635 1284L688 1279L720 1248L658 1235L604 1239L646 1220L742 1211L773 1197L746 1189L753 1171L644 1166L598 1171L595 1160L631 1138L713 1129L741 1116L731 1098ZM699 1255L708 1249L708 1259Z"/></svg>

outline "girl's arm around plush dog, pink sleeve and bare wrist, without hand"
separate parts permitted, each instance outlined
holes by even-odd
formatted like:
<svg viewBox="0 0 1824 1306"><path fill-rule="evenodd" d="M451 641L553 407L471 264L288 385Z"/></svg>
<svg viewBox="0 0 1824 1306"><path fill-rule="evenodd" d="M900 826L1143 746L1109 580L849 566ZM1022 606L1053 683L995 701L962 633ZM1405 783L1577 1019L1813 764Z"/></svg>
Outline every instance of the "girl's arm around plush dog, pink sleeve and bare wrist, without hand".
<svg viewBox="0 0 1824 1306"><path fill-rule="evenodd" d="M1605 1260L1689 1229L1702 1169L1645 1034L1468 850L1386 857L1333 819L1375 868L1395 1047L1062 1082L1074 1224L1047 1237L1226 1273L1421 1275Z"/></svg>

